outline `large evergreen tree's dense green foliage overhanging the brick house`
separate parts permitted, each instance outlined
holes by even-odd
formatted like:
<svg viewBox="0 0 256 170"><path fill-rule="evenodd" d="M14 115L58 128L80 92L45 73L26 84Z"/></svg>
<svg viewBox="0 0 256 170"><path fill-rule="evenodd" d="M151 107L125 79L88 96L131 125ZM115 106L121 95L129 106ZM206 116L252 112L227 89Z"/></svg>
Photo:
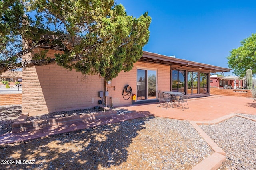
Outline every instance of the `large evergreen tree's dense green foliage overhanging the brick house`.
<svg viewBox="0 0 256 170"><path fill-rule="evenodd" d="M1 44L9 44L10 48L14 44L11 40L17 41L22 37L31 48L45 43L47 47L64 49L64 53L55 54L59 66L86 75L100 74L107 80L112 80L121 71L131 70L133 63L142 56L142 48L149 39L151 18L148 13L139 18L128 16L124 6L116 5L114 0L54 3L46 0L14 0L11 3L3 0L0 6L3 6L0 8ZM30 15L34 13L36 17L32 19ZM45 34L54 34L54 38L42 41L41 37ZM26 47L21 41L16 44L19 49ZM0 52L8 49L7 46L1 47ZM13 54L0 59L0 64L4 63L2 70L15 64L16 67L24 65L17 65L21 62L17 62L17 56L9 61L10 56ZM51 61L46 58L45 51L34 55L33 60L38 65Z"/></svg>

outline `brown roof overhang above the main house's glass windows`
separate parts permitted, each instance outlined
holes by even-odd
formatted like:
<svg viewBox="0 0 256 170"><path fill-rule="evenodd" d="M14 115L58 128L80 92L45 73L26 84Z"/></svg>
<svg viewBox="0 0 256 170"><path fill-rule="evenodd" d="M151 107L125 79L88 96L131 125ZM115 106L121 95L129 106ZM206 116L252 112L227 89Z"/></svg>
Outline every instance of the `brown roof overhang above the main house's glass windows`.
<svg viewBox="0 0 256 170"><path fill-rule="evenodd" d="M178 58L169 57L166 55L151 53L148 51L143 51L143 55L139 59L139 61L146 62L146 63L164 64L169 66L178 65L179 66L178 68L186 67L186 69L191 68L191 69L205 70L213 73L229 72L231 70L229 68L213 66L209 64L203 64L203 63L198 63L198 62L184 60L184 59L178 59Z"/></svg>

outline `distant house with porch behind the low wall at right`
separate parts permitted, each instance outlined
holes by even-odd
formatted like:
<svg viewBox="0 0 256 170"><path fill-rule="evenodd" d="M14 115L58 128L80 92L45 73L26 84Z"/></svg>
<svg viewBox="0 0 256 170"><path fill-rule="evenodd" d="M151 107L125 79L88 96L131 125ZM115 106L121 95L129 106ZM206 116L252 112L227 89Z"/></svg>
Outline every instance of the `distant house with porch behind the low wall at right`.
<svg viewBox="0 0 256 170"><path fill-rule="evenodd" d="M228 88L241 89L244 87L244 80L235 76L218 77L217 75L211 75L210 86L225 88L226 85Z"/></svg>

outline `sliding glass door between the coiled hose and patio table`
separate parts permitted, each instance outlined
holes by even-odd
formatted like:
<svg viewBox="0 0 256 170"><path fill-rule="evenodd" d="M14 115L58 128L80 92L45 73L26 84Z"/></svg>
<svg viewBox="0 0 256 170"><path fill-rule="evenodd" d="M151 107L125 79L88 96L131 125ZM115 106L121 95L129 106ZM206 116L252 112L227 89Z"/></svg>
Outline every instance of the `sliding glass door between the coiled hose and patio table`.
<svg viewBox="0 0 256 170"><path fill-rule="evenodd" d="M137 70L137 100L156 99L156 71Z"/></svg>

